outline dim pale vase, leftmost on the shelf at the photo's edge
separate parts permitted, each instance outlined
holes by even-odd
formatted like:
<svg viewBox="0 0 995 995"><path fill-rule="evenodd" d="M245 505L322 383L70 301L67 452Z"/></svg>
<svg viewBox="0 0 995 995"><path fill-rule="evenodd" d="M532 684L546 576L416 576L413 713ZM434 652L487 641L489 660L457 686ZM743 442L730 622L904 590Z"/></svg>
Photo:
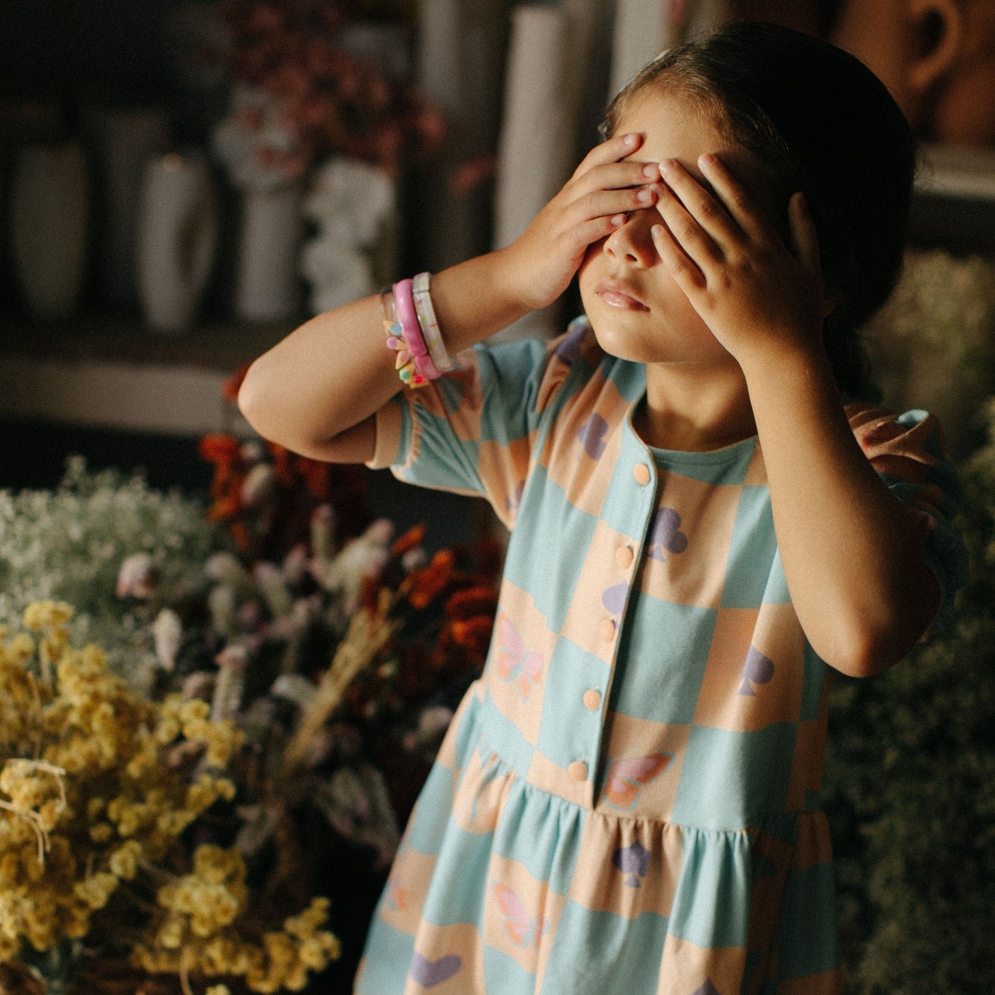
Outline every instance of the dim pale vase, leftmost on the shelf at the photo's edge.
<svg viewBox="0 0 995 995"><path fill-rule="evenodd" d="M82 145L21 149L14 168L11 257L21 296L35 317L68 317L80 302L89 197Z"/></svg>

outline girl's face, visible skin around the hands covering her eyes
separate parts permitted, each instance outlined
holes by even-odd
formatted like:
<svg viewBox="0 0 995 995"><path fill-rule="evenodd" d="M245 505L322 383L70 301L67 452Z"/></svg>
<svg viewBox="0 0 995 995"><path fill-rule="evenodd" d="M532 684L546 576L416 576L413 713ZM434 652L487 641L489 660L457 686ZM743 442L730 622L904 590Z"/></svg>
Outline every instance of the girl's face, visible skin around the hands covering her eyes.
<svg viewBox="0 0 995 995"><path fill-rule="evenodd" d="M704 152L718 154L765 211L772 211L759 182L761 168L732 146L700 107L677 92L648 89L637 95L616 133L639 132L643 144L630 158L641 162L677 159L706 189L697 166ZM674 282L653 244L650 229L661 224L655 206L631 212L625 224L593 243L579 269L580 296L602 348L644 363L734 363Z"/></svg>

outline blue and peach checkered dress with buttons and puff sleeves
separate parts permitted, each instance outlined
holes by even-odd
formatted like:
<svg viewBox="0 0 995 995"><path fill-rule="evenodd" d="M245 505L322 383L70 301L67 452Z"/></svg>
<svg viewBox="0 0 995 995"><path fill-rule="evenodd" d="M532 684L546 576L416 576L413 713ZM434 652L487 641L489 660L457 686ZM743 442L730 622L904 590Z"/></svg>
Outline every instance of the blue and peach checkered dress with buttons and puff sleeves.
<svg viewBox="0 0 995 995"><path fill-rule="evenodd" d="M645 368L585 319L461 355L371 467L511 527L483 677L418 800L358 995L836 992L818 788L832 672L791 605L755 438L647 447ZM924 412L848 408L944 594L958 485ZM855 559L859 551L855 550Z"/></svg>

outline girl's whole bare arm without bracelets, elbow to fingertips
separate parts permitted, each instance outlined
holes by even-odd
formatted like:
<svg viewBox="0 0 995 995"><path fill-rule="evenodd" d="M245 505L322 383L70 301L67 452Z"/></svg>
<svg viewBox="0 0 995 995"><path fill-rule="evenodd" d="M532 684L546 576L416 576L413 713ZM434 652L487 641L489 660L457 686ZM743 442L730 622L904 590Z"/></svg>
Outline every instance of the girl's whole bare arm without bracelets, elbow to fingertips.
<svg viewBox="0 0 995 995"><path fill-rule="evenodd" d="M844 414L822 344L829 306L804 198L789 204L789 249L721 162L698 165L725 209L679 164L663 164L658 251L745 375L806 637L837 670L877 673L939 607L921 519L882 482Z"/></svg>

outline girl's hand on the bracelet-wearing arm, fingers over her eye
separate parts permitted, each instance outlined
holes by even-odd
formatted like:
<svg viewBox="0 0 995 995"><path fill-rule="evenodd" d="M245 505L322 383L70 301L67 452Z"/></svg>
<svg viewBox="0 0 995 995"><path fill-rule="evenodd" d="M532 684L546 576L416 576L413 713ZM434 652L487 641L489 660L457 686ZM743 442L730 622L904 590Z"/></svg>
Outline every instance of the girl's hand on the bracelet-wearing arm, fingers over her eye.
<svg viewBox="0 0 995 995"><path fill-rule="evenodd" d="M502 250L507 279L524 306L552 303L569 286L588 246L611 235L627 212L654 203L659 167L621 161L642 141L642 135L623 134L596 145L524 233Z"/></svg>

